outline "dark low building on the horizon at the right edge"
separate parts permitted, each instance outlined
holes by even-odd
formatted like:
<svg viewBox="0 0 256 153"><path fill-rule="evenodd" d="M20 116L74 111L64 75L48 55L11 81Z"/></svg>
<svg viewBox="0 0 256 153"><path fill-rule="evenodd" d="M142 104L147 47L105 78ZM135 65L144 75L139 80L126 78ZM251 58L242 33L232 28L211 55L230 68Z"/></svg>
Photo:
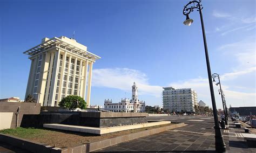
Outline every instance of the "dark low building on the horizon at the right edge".
<svg viewBox="0 0 256 153"><path fill-rule="evenodd" d="M256 115L256 107L230 107L230 113L239 113L240 116Z"/></svg>

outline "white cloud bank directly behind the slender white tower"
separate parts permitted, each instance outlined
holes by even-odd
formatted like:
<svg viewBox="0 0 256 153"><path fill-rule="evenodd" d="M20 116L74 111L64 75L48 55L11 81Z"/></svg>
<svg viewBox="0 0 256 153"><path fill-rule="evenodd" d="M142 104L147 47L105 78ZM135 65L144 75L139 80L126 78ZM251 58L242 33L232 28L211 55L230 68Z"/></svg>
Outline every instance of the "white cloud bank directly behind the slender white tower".
<svg viewBox="0 0 256 153"><path fill-rule="evenodd" d="M149 85L146 74L129 68L93 69L92 86L116 88L130 91L133 82L139 87L139 94L161 96L162 87Z"/></svg>

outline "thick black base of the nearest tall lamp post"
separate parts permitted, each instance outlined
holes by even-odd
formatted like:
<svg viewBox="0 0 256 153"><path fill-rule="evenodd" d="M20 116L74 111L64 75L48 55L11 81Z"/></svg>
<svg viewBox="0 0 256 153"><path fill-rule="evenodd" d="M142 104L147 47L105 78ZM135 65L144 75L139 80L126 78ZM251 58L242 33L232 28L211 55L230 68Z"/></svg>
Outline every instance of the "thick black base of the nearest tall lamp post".
<svg viewBox="0 0 256 153"><path fill-rule="evenodd" d="M220 127L215 127L215 150L217 152L226 152L226 144L221 135Z"/></svg>

